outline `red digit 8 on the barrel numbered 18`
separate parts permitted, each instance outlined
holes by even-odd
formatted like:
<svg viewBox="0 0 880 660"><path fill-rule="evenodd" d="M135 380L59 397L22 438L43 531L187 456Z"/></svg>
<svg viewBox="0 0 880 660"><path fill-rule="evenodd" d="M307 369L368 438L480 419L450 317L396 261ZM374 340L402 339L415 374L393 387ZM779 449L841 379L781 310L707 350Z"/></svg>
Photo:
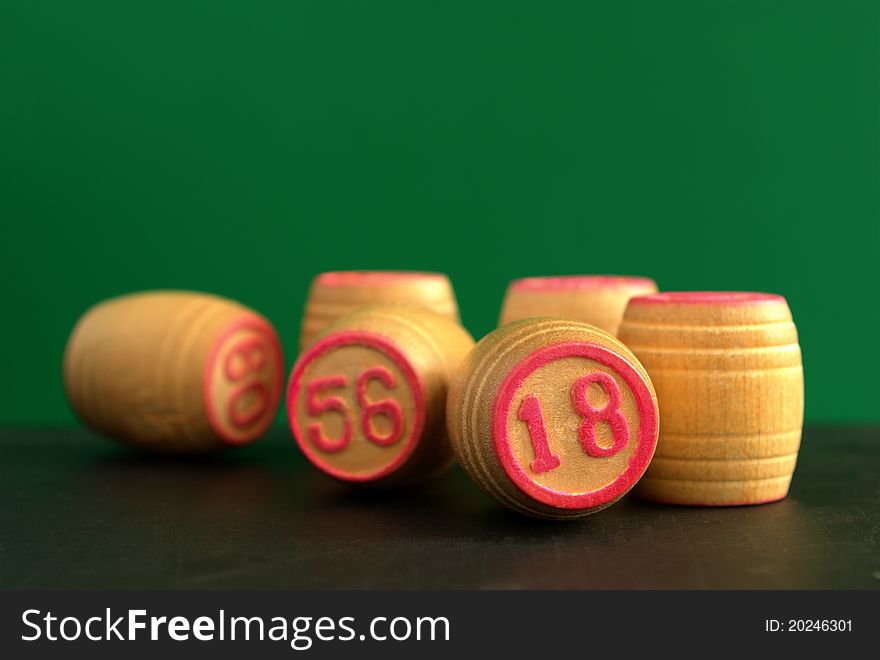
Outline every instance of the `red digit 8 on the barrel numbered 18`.
<svg viewBox="0 0 880 660"><path fill-rule="evenodd" d="M587 398L587 390L593 383L601 385L608 394L608 403L600 410L594 408ZM611 375L597 371L578 378L571 388L571 400L578 415L584 418L578 429L578 435L581 446L589 456L594 458L614 456L626 447L629 443L629 423L620 410L620 388ZM600 421L608 422L608 426L611 427L610 447L602 447L596 441L596 424Z"/></svg>

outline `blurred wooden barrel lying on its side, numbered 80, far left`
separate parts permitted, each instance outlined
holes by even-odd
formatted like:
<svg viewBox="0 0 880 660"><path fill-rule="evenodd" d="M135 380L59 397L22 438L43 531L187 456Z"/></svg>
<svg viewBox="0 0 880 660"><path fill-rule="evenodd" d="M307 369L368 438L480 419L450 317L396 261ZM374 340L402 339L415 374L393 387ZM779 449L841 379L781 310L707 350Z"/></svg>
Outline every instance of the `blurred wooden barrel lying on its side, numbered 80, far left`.
<svg viewBox="0 0 880 660"><path fill-rule="evenodd" d="M63 370L85 424L147 449L197 452L245 444L269 428L284 360L272 325L244 305L156 291L89 309Z"/></svg>

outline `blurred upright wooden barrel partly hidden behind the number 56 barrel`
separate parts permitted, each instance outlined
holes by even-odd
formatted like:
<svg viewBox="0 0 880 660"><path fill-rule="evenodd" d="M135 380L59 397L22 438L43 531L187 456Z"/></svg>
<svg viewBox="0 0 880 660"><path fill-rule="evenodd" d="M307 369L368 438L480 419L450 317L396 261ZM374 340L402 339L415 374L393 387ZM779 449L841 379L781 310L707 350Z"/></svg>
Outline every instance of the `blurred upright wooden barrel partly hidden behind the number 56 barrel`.
<svg viewBox="0 0 880 660"><path fill-rule="evenodd" d="M418 305L458 322L452 283L442 273L339 271L321 273L309 288L300 350L336 319L365 305Z"/></svg>

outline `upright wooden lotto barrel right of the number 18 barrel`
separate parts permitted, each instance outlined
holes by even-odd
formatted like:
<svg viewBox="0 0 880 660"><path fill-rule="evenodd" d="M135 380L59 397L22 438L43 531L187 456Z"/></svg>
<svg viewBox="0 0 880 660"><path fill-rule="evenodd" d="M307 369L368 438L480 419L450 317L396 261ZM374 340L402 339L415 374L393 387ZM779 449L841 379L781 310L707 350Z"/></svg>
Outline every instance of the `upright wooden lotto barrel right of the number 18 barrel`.
<svg viewBox="0 0 880 660"><path fill-rule="evenodd" d="M651 374L663 420L639 496L722 506L787 495L801 441L804 374L784 298L633 298L620 339Z"/></svg>

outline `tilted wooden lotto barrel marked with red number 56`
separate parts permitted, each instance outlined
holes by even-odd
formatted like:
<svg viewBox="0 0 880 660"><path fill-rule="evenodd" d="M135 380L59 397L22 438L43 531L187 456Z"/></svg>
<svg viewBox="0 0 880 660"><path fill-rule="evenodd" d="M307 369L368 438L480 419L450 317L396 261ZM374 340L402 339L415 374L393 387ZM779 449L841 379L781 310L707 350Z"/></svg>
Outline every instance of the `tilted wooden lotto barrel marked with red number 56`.
<svg viewBox="0 0 880 660"><path fill-rule="evenodd" d="M287 389L290 429L306 457L347 482L424 481L453 463L449 382L473 346L458 323L413 306L368 306L325 328Z"/></svg>

